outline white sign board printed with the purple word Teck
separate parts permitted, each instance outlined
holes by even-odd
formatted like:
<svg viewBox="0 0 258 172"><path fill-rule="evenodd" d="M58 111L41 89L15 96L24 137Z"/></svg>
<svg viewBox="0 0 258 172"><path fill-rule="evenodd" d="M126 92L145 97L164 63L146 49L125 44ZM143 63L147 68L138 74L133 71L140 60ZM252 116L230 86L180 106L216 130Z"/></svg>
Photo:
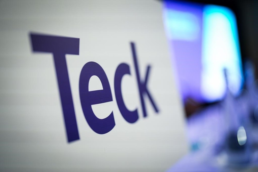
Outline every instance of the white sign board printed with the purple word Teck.
<svg viewBox="0 0 258 172"><path fill-rule="evenodd" d="M164 171L187 152L161 2L1 1L0 38L1 171Z"/></svg>

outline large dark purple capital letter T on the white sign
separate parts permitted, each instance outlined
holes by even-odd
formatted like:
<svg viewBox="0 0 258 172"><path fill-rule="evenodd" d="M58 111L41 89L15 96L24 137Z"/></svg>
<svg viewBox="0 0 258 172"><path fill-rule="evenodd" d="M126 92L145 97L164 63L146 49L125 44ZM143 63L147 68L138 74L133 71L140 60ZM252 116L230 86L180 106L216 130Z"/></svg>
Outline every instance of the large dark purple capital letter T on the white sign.
<svg viewBox="0 0 258 172"><path fill-rule="evenodd" d="M68 142L80 139L65 54L79 55L79 38L30 33L34 52L53 53Z"/></svg>

